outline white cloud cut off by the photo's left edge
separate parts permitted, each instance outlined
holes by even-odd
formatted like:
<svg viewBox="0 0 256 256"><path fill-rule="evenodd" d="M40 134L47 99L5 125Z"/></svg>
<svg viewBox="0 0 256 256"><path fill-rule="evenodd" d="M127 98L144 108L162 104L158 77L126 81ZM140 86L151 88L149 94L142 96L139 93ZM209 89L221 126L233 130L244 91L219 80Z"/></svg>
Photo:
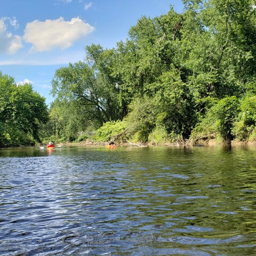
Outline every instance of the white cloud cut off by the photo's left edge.
<svg viewBox="0 0 256 256"><path fill-rule="evenodd" d="M21 36L12 35L12 33L6 31L7 27L4 23L6 18L0 20L0 52L14 54L23 47Z"/></svg>

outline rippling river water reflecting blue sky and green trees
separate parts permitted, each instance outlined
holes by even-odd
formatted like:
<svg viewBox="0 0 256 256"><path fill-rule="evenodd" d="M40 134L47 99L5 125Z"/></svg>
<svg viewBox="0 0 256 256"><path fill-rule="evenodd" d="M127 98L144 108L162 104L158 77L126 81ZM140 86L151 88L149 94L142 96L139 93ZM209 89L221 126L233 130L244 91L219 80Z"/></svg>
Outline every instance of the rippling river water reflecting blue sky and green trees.
<svg viewBox="0 0 256 256"><path fill-rule="evenodd" d="M0 255L256 255L256 146L0 150Z"/></svg>

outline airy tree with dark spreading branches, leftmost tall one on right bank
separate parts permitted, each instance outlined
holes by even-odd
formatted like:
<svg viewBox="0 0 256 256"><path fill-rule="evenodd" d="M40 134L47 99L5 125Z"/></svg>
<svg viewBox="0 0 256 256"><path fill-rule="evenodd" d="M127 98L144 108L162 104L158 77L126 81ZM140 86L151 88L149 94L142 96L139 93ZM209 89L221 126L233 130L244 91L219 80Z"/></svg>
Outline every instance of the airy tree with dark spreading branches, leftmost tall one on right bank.
<svg viewBox="0 0 256 256"><path fill-rule="evenodd" d="M118 83L109 70L112 54L100 45L87 46L86 62L69 63L58 69L52 80L53 96L83 105L95 126L122 119L125 114L119 106Z"/></svg>

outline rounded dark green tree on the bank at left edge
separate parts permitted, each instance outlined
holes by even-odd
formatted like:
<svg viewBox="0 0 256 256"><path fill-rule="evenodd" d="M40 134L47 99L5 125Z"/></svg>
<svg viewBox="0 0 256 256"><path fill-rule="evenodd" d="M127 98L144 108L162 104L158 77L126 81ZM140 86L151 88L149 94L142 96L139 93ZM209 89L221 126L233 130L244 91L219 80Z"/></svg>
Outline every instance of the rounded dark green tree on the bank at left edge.
<svg viewBox="0 0 256 256"><path fill-rule="evenodd" d="M28 145L40 141L39 130L48 121L45 98L31 84L16 85L0 72L0 144Z"/></svg>

